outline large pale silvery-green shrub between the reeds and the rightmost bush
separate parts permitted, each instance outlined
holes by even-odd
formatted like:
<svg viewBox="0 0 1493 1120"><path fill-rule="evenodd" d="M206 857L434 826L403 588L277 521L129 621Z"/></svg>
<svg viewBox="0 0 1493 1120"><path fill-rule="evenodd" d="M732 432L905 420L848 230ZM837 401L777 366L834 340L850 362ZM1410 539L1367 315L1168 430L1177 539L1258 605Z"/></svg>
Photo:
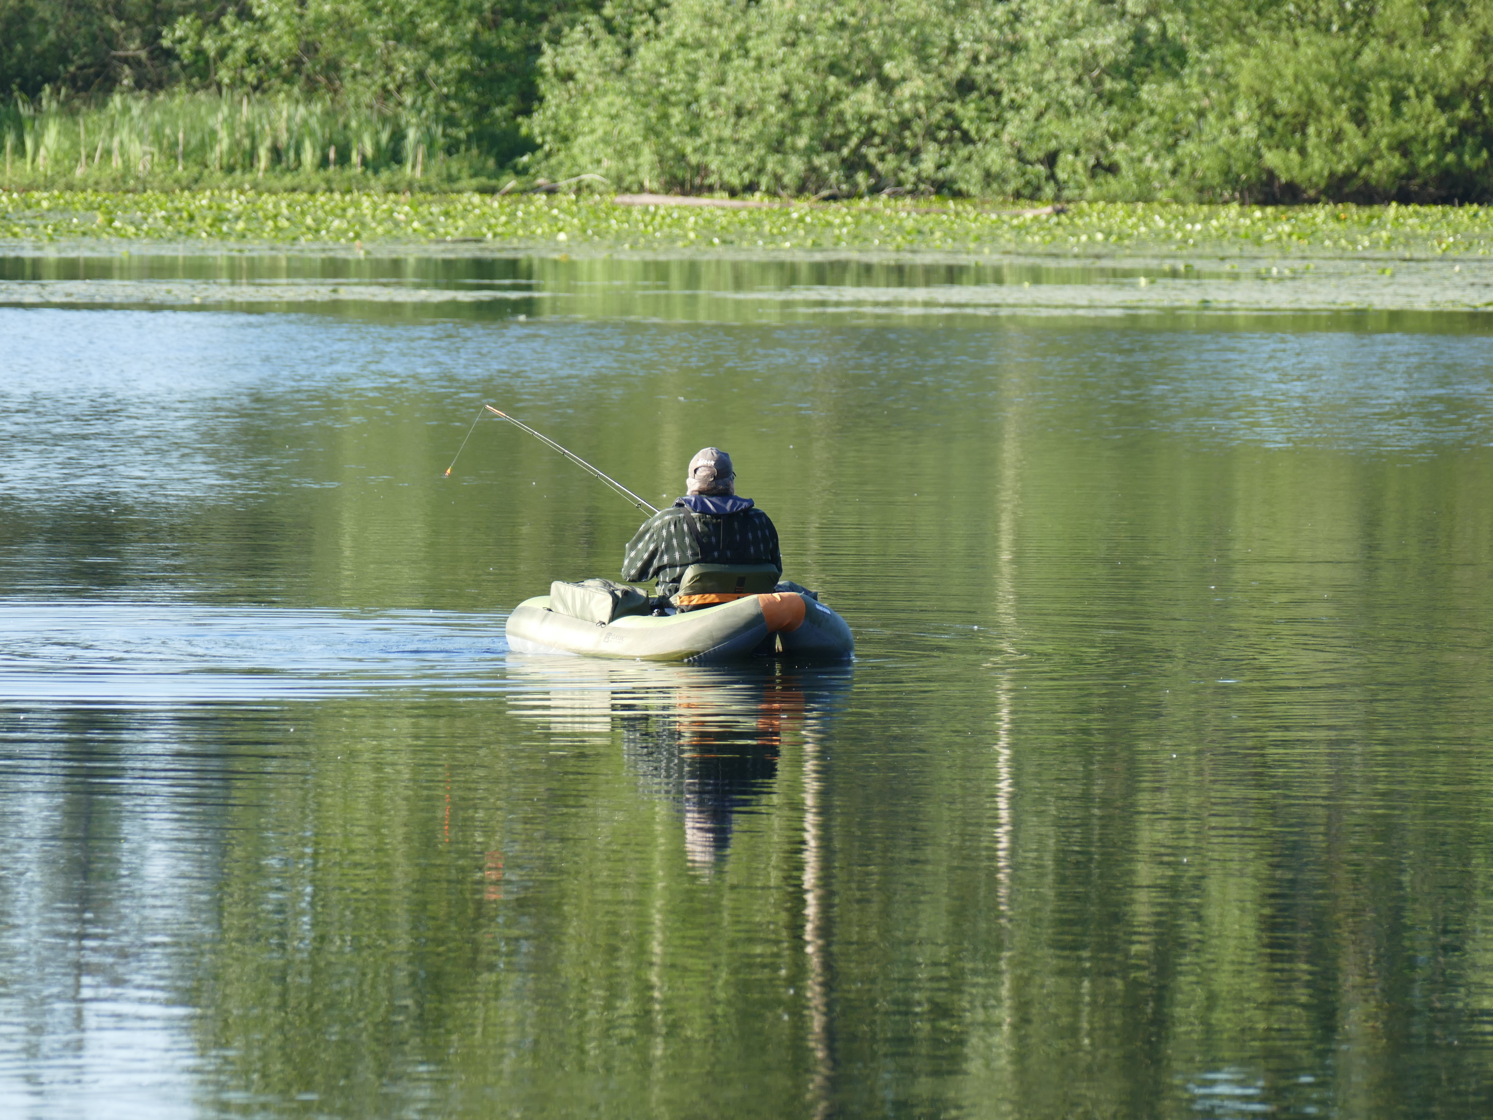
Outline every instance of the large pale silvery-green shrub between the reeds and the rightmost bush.
<svg viewBox="0 0 1493 1120"><path fill-rule="evenodd" d="M624 0L546 52L530 128L557 173L632 187L1060 196L1168 37L1094 0Z"/></svg>

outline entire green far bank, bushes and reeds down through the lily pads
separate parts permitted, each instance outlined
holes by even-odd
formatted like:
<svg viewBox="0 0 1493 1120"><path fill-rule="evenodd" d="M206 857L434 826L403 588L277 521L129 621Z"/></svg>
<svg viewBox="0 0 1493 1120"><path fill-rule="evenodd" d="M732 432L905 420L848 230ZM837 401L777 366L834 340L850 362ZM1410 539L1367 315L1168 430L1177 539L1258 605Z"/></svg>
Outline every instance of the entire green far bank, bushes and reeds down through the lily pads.
<svg viewBox="0 0 1493 1120"><path fill-rule="evenodd" d="M1474 0L0 0L0 240L1475 258L1489 90Z"/></svg>

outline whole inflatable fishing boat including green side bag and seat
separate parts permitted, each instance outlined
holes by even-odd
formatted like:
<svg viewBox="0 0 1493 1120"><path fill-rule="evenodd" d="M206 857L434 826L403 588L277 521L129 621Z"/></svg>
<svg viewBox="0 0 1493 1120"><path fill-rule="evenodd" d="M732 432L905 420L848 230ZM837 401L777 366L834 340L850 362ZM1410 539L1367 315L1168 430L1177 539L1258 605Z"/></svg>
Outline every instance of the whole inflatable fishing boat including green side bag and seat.
<svg viewBox="0 0 1493 1120"><path fill-rule="evenodd" d="M551 584L549 594L526 599L508 617L508 645L526 654L572 654L642 662L717 665L751 657L841 660L855 651L850 626L797 584L754 593L749 579L717 564L682 587L691 609L658 608L626 584L587 579ZM723 582L726 578L726 582ZM776 572L772 572L776 579ZM693 587L691 587L693 584ZM730 587L700 591L702 585ZM746 590L735 590L744 587ZM772 585L772 584L769 584ZM790 590L791 588L791 590ZM702 600L705 600L702 603ZM694 605L700 603L700 605Z"/></svg>

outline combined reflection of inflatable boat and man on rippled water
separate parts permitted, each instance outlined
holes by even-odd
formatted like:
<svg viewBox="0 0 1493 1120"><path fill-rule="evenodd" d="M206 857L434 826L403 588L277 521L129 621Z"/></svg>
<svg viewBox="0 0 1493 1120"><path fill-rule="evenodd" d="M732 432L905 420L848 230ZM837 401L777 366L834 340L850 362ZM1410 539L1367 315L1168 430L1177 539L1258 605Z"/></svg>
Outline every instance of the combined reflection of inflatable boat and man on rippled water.
<svg viewBox="0 0 1493 1120"><path fill-rule="evenodd" d="M797 727L826 718L850 690L848 666L738 669L514 659L526 685L511 709L566 739L621 741L646 794L676 806L690 866L709 872L741 814L770 793Z"/></svg>

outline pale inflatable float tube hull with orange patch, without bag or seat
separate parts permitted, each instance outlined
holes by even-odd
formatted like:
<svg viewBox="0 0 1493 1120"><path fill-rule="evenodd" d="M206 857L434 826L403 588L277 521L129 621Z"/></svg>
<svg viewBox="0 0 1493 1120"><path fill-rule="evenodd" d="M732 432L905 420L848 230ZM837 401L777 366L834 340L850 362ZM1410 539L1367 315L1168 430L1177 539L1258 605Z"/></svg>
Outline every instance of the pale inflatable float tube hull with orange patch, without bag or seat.
<svg viewBox="0 0 1493 1120"><path fill-rule="evenodd" d="M508 645L526 654L717 665L751 657L845 659L855 653L845 620L797 591L748 594L670 615L590 623L526 599L508 617Z"/></svg>

